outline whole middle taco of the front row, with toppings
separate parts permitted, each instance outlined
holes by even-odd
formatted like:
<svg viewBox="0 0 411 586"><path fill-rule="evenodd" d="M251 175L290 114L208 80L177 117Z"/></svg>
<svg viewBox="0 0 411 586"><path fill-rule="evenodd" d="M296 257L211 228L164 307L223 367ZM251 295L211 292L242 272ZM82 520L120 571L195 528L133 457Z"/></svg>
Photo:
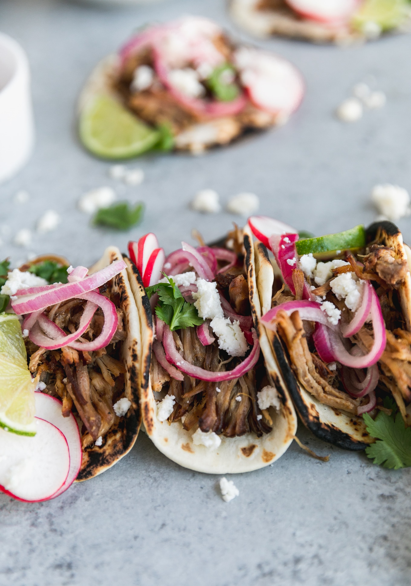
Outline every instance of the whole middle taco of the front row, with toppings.
<svg viewBox="0 0 411 586"><path fill-rule="evenodd" d="M265 298L259 287L273 279L272 266L237 228L211 246L183 243L166 258L148 234L129 243L129 253L150 439L177 464L200 472L272 464L297 426L258 323Z"/></svg>

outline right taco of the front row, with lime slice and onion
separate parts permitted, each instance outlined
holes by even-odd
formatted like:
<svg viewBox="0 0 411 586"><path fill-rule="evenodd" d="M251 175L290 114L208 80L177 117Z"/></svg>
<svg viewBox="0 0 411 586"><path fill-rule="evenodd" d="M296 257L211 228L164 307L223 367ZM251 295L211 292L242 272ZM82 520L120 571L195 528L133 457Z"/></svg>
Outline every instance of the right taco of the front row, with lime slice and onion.
<svg viewBox="0 0 411 586"><path fill-rule="evenodd" d="M249 224L279 267L261 322L304 424L361 450L374 442L362 414L375 418L386 397L411 423L411 277L398 228L379 222L299 239L263 216Z"/></svg>

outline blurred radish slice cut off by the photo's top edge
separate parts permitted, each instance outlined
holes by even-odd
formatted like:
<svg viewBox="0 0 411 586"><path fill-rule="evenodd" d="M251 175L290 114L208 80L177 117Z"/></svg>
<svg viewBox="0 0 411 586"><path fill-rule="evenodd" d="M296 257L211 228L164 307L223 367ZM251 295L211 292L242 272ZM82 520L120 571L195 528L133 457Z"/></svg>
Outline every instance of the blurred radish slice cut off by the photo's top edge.
<svg viewBox="0 0 411 586"><path fill-rule="evenodd" d="M358 0L286 0L300 15L313 21L341 23L354 13Z"/></svg>

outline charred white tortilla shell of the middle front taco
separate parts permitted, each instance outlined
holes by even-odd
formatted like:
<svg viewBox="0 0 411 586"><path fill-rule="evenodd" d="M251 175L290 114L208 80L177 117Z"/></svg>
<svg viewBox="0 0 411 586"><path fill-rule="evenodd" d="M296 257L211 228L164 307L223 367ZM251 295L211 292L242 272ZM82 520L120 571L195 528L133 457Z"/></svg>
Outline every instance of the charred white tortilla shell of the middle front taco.
<svg viewBox="0 0 411 586"><path fill-rule="evenodd" d="M143 359L140 404L145 430L156 447L167 458L184 466L184 468L198 472L219 474L250 472L272 464L286 451L296 432L297 421L292 402L278 367L269 351L265 332L258 325L258 316L261 315L260 298L265 298L266 295L264 292L259 294L257 282L259 281L260 285L262 285L267 280L269 281L272 267L271 265L268 267L265 260L262 259L259 267L264 264L263 268L261 271L257 271L255 268L254 247L249 234L245 235L244 244L252 315L258 328L261 350L265 358L269 380L278 391L282 405L279 412L273 407L269 409L269 414L273 421L273 430L269 434L264 434L261 438L256 437L253 433L232 438L221 436L221 445L214 450L206 448L204 445L193 444L192 435L194 430L184 430L181 421L170 424L168 421L162 422L157 418L156 401L150 384L150 360L153 340L152 312L138 271L135 265L126 260L131 288L135 295L141 320Z"/></svg>

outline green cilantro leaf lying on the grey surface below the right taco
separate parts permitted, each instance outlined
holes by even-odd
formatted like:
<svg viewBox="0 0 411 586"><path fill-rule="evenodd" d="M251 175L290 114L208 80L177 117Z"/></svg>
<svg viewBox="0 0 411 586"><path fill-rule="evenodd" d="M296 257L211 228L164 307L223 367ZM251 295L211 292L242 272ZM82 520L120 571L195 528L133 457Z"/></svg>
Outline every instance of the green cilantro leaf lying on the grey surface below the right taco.
<svg viewBox="0 0 411 586"><path fill-rule="evenodd" d="M368 413L363 417L368 433L377 439L365 449L368 458L384 468L398 470L411 466L411 428L405 427L401 414L380 411L375 420Z"/></svg>

